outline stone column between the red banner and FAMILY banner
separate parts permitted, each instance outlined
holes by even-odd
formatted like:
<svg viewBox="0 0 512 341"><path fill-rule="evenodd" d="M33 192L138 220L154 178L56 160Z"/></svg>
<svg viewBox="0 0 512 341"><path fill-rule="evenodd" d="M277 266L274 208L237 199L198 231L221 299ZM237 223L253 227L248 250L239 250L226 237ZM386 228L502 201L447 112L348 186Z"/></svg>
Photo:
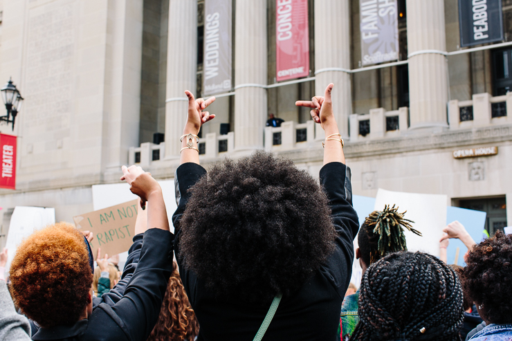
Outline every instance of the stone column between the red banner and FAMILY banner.
<svg viewBox="0 0 512 341"><path fill-rule="evenodd" d="M334 69L334 70L332 70ZM343 138L348 137L352 113L350 73L350 6L349 0L315 1L315 94L324 95L329 83L336 122ZM323 138L320 125L316 137Z"/></svg>

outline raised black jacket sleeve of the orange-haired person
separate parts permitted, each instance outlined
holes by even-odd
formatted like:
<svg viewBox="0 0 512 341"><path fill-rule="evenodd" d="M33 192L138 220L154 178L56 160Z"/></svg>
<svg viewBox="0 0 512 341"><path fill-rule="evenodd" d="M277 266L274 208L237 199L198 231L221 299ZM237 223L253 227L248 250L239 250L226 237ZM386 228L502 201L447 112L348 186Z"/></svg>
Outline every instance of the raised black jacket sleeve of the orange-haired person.
<svg viewBox="0 0 512 341"><path fill-rule="evenodd" d="M101 303L94 309L84 340L147 339L172 273L172 239L171 232L158 228L144 233L140 257L124 295L113 305ZM135 244L132 247L137 248ZM135 257L130 264L134 262Z"/></svg>

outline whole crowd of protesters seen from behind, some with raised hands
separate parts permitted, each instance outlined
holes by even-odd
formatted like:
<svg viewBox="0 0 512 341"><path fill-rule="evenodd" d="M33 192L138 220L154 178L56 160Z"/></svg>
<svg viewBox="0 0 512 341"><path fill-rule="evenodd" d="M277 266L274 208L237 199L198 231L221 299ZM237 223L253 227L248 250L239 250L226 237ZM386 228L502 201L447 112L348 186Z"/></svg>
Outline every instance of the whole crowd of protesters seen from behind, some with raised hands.
<svg viewBox="0 0 512 341"><path fill-rule="evenodd" d="M207 172L197 134L214 98L185 91L174 234L161 187L123 166L141 210L122 272L100 250L95 268L90 232L35 232L17 248L9 286L0 277L0 340L511 340L512 236L475 243L448 225L440 250L450 238L468 246L457 268L446 252L407 250L404 231L421 231L399 208L359 228L332 89L296 103L325 132L320 184L263 151Z"/></svg>

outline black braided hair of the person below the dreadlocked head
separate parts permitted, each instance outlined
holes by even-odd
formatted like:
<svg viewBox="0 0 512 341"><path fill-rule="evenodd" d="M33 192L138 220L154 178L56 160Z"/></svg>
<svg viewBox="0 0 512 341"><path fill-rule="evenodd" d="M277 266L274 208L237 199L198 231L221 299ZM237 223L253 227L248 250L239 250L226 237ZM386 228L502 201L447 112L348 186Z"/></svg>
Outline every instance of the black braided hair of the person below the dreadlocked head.
<svg viewBox="0 0 512 341"><path fill-rule="evenodd" d="M423 252L395 252L369 266L350 340L455 341L464 319L455 271Z"/></svg>

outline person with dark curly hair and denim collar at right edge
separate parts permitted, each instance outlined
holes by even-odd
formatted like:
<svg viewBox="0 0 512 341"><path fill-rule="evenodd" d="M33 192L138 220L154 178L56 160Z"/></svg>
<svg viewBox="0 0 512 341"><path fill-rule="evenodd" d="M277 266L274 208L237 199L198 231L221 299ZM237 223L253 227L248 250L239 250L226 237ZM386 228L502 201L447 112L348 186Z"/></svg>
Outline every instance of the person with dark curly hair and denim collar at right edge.
<svg viewBox="0 0 512 341"><path fill-rule="evenodd" d="M484 329L468 333L466 340L512 339L512 235L496 232L473 246L461 272L464 293L486 322Z"/></svg>

